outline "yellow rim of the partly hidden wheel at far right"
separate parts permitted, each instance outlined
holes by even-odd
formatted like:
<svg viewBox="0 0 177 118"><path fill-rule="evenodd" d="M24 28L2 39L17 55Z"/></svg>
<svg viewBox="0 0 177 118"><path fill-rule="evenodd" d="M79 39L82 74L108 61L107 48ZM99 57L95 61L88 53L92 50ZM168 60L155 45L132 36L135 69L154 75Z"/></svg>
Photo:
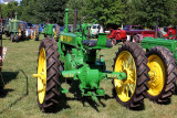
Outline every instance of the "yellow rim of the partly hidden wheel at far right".
<svg viewBox="0 0 177 118"><path fill-rule="evenodd" d="M160 94L165 82L165 67L163 61L157 55L150 55L148 57L148 72L150 81L148 82L149 90L148 94L152 96L157 96Z"/></svg>

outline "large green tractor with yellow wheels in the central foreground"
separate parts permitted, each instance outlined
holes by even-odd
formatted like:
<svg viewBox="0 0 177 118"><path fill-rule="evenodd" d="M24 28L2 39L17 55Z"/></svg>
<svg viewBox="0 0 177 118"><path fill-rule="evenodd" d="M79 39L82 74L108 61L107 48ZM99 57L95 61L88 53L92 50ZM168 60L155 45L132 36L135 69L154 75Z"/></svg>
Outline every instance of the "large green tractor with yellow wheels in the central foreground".
<svg viewBox="0 0 177 118"><path fill-rule="evenodd" d="M92 40L93 35L90 32L90 28L98 20L86 15L81 20L77 29L77 13L74 12L74 30L69 32L67 13L69 9L65 10L65 29L60 33L59 43L53 37L46 37L41 41L39 47L38 71L33 77L38 78L37 93L40 109L48 112L60 104L61 95L67 93L61 87L63 79L77 81L81 95L91 97L94 101L105 96L105 89L100 86L101 81L113 79L117 101L128 109L140 108L147 95L149 77L156 74L149 72L148 60L142 46L134 42L124 43L116 52L113 72L106 71L105 61L102 55L97 55L97 52L111 49L113 45L106 41L106 33L100 33L97 40ZM94 23L84 23L90 18ZM157 69L163 69L157 73L159 78L163 78L162 74L166 73L165 67L158 66ZM174 76L170 75L173 82ZM166 79L159 83L164 82L166 84ZM171 82L168 79L167 83ZM170 98L173 89L174 85L170 84L168 89L165 89L168 94L167 97L163 96L163 100Z"/></svg>

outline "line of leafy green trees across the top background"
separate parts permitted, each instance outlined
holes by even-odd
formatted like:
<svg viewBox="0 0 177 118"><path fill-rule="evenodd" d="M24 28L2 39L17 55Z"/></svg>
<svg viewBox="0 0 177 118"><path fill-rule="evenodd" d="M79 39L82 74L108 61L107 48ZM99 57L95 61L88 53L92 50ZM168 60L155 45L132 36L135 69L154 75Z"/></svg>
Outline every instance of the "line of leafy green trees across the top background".
<svg viewBox="0 0 177 118"><path fill-rule="evenodd" d="M153 29L158 19L159 26L177 25L177 0L22 0L1 4L2 17L18 12L18 19L42 23L64 24L64 9L70 9L69 23L73 23L74 9L81 20L92 14L104 28L123 24L139 24Z"/></svg>

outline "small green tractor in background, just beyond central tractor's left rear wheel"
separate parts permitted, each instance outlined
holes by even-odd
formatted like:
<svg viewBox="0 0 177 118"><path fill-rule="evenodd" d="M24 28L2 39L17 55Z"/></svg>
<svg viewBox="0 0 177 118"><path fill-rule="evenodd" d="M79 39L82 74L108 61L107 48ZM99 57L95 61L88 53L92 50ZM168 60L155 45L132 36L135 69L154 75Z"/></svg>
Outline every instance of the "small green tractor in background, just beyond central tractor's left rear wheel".
<svg viewBox="0 0 177 118"><path fill-rule="evenodd" d="M44 37L53 37L56 40L56 42L59 41L59 36L60 36L60 26L59 25L54 25L54 24L50 24L50 23L43 23L44 29L42 32L40 32L40 26L39 24L35 25L34 29L34 33L33 33L33 40L34 41L39 41L40 34L43 34ZM54 28L55 26L55 28ZM53 31L54 29L54 31Z"/></svg>

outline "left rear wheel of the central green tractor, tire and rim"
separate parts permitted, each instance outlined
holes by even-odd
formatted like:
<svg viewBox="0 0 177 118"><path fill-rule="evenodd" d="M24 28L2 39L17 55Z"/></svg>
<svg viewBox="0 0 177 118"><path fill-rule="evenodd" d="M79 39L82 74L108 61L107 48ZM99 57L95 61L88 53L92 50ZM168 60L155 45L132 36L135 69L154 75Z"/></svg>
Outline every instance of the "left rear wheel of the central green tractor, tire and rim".
<svg viewBox="0 0 177 118"><path fill-rule="evenodd" d="M38 65L38 104L43 112L52 111L59 104L59 77L61 62L59 61L58 44L53 39L41 41Z"/></svg>

